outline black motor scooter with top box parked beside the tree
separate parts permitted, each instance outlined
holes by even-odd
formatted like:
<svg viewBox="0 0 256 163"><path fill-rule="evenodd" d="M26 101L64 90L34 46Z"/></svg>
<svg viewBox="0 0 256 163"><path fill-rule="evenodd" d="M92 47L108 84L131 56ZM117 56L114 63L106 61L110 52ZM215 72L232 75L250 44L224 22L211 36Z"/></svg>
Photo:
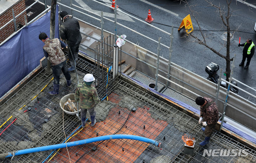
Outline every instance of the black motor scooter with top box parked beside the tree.
<svg viewBox="0 0 256 163"><path fill-rule="evenodd" d="M219 75L217 74L218 70L219 70L218 64L213 63L213 62L209 63L205 68L205 71L208 74L208 77L206 79L217 84L218 80L219 80ZM231 84L234 84L235 86L237 86L237 83L235 81L231 81ZM226 88L226 82L221 81L220 86ZM238 88L230 86L230 91L234 92L235 94L238 94L238 90L239 90Z"/></svg>

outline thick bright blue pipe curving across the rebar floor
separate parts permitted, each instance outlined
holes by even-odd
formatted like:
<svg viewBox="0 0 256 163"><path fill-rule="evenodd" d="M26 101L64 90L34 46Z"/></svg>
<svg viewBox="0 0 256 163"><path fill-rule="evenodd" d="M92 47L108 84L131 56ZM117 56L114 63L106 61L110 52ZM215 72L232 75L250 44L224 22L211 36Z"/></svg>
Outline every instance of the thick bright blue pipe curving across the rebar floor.
<svg viewBox="0 0 256 163"><path fill-rule="evenodd" d="M43 147L29 148L29 149L25 149L25 150L14 151L14 154L15 154L15 156L18 156L18 155L27 154L27 153L55 150L58 148L65 148L66 146L72 147L72 146L83 145L83 144L88 144L88 143L97 142L97 141L112 140L112 139L138 140L138 141L143 141L146 143L153 144L158 147L160 147L160 145L161 145L160 142L146 138L146 137L137 136L137 135L118 134L118 135L98 136L98 137L93 137L90 139L67 142L67 143L63 143L63 144L55 144L55 145L49 145L49 146L43 146ZM12 152L2 153L0 156L0 158L7 158L7 157L12 157Z"/></svg>

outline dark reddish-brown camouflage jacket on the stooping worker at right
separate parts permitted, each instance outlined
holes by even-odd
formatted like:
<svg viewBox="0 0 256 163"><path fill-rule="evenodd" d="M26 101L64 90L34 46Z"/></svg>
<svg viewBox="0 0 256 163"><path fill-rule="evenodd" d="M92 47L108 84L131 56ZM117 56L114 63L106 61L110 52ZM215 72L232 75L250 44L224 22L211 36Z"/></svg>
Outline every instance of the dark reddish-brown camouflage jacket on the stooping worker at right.
<svg viewBox="0 0 256 163"><path fill-rule="evenodd" d="M213 100L209 97L203 97L207 103L212 102ZM207 105L206 103L206 105ZM205 105L205 106L206 106ZM203 117L203 121L206 121L207 124L215 124L219 120L219 111L215 102L212 105L205 108L204 106L200 107L200 116Z"/></svg>

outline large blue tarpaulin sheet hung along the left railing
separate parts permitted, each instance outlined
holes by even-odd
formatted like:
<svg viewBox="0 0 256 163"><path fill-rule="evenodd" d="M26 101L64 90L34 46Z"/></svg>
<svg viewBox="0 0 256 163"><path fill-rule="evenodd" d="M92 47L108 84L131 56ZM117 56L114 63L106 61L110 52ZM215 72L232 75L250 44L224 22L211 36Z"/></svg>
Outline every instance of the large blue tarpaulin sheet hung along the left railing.
<svg viewBox="0 0 256 163"><path fill-rule="evenodd" d="M59 38L59 8L56 7L55 38ZM44 43L40 32L50 36L50 12L21 29L15 36L0 46L0 97L26 77L40 64Z"/></svg>

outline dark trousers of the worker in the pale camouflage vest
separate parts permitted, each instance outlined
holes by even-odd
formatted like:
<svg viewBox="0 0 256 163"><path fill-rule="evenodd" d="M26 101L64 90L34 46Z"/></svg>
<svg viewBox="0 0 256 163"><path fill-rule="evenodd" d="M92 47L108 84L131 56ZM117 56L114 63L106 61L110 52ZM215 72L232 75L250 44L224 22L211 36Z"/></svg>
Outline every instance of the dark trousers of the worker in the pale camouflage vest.
<svg viewBox="0 0 256 163"><path fill-rule="evenodd" d="M71 76L68 71L68 65L66 64L66 60L60 64L52 66L52 69L53 69L53 77L54 77L53 83L54 84L56 84L56 85L59 84L60 71L63 72L63 74L67 80L71 79Z"/></svg>

